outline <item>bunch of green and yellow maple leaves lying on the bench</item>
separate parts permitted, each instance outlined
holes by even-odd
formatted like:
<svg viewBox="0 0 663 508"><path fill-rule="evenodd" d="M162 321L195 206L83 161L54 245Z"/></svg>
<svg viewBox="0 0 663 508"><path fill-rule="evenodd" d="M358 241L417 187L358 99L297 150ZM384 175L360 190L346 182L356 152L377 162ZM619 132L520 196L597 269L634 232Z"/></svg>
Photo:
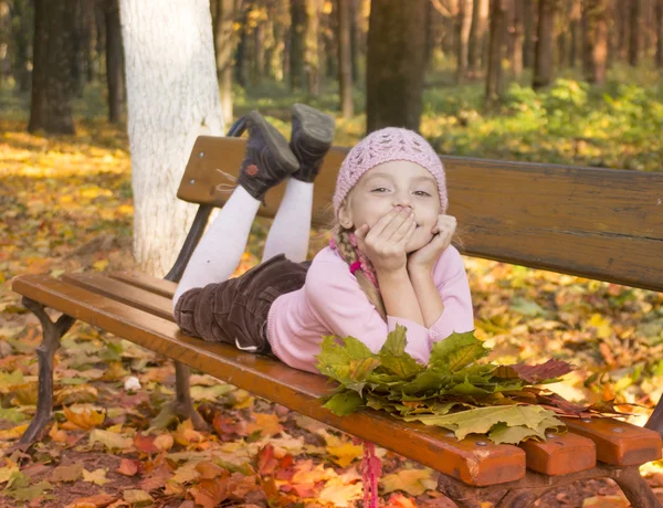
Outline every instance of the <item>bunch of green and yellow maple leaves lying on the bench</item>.
<svg viewBox="0 0 663 508"><path fill-rule="evenodd" d="M336 380L325 408L337 415L362 408L385 410L406 422L420 421L455 433L486 434L496 444L545 440L561 431L561 416L617 413L610 403L580 406L538 385L571 371L565 361L496 366L477 360L490 350L472 332L436 342L428 366L406 352L406 329L397 327L373 354L354 337L325 337L318 370Z"/></svg>

